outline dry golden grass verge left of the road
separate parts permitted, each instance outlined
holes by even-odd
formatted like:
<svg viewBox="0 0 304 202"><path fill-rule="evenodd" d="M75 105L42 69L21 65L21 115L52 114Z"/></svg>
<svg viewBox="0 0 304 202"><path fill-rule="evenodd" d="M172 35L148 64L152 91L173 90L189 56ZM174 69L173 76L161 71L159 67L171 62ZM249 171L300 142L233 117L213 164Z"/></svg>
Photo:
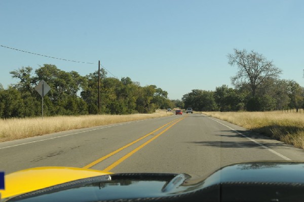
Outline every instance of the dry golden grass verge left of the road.
<svg viewBox="0 0 304 202"><path fill-rule="evenodd" d="M44 117L44 119L41 117L0 119L0 142L72 129L169 116L172 114L173 113L170 112L167 113L165 110L157 110L151 114L52 116Z"/></svg>

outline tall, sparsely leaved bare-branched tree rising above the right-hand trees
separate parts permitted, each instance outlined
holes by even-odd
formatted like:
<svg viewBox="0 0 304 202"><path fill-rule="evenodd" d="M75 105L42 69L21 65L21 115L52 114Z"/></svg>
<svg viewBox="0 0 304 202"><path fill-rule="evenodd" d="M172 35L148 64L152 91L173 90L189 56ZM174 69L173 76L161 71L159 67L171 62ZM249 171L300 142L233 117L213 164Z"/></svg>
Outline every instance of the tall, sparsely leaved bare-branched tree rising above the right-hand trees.
<svg viewBox="0 0 304 202"><path fill-rule="evenodd" d="M268 61L262 54L251 51L234 49L234 54L227 55L229 64L237 66L237 75L231 78L233 85L240 87L244 84L250 86L252 97L266 78L276 78L282 70L277 68L273 61Z"/></svg>

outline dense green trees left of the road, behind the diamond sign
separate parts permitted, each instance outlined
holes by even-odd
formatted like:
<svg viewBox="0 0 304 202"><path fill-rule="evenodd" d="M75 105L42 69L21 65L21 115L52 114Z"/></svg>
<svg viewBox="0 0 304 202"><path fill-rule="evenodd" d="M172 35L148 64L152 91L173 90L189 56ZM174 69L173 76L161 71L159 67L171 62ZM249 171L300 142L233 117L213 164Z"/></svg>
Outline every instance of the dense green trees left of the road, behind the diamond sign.
<svg viewBox="0 0 304 202"><path fill-rule="evenodd" d="M100 70L100 110L98 110L98 71L81 76L55 65L44 64L33 72L32 67L11 71L17 84L4 89L0 85L0 117L35 117L41 115L42 98L34 89L41 80L51 87L44 96L44 114L130 114L151 113L173 107L168 93L155 85L141 87L129 77L107 77Z"/></svg>

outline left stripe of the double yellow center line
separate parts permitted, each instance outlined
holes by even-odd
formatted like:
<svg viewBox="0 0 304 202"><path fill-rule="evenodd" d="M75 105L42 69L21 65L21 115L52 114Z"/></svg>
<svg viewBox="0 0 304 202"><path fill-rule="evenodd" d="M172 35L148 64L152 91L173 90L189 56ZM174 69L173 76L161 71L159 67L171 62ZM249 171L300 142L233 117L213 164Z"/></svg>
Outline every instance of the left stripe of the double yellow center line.
<svg viewBox="0 0 304 202"><path fill-rule="evenodd" d="M114 155L114 154L116 154L116 153L122 151L123 149L125 149L125 148L127 148L127 147L129 147L129 146L131 146L131 145L133 145L133 144L135 144L136 142L138 142L138 141L140 141L140 140L142 140L142 139L144 139L144 138L146 138L146 137L148 137L148 136L154 134L155 132L157 132L157 131L159 131L159 130L163 129L164 127L166 127L166 126L168 126L168 125L171 124L167 129L164 130L164 131L167 131L169 128L171 128L171 126L175 125L177 122L179 122L179 121L182 120L182 119L183 119L183 117L180 117L180 118L178 118L178 119L174 119L174 120L172 120L171 122L169 122L169 123L167 123L167 124L165 124L165 125L159 127L158 129L156 129L156 130L154 130L154 131L152 131L152 132L150 132L150 133L148 133L148 134L146 134L146 135L144 135L144 136L142 136L142 137L140 137L140 138L134 140L133 142L131 142L131 143L129 143L129 144L126 144L125 146L123 146L123 147L121 147L121 148L119 148L119 149L117 149L117 150L115 150L115 151L113 151L113 152L111 152L111 153L109 153L109 154L107 154L107 155L105 155L105 156L103 156L103 157L101 157L101 158L99 158L99 159L93 161L92 163L90 163L90 164L84 166L83 168L85 168L85 169L91 168L91 167L93 167L94 165L96 165L96 164L100 163L101 161L103 161L104 159L106 159L106 158L108 158L108 157L110 157L110 156L112 156L112 155ZM162 132L162 133L163 133L163 132ZM153 137L153 138L151 138L151 139L155 139L155 138L158 137L158 136L159 136L159 135L157 135L157 136L155 136L155 137Z"/></svg>

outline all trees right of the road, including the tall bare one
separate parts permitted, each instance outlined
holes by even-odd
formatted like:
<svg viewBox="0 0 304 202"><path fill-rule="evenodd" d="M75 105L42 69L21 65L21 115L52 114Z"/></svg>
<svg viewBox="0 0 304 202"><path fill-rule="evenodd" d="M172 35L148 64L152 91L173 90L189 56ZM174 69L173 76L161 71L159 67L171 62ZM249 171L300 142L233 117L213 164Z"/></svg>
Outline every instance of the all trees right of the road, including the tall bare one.
<svg viewBox="0 0 304 202"><path fill-rule="evenodd" d="M183 95L185 107L197 111L270 111L304 108L304 88L294 80L280 79L282 70L262 54L234 50L227 55L238 72L231 78L235 88L227 85L215 91L192 90Z"/></svg>

